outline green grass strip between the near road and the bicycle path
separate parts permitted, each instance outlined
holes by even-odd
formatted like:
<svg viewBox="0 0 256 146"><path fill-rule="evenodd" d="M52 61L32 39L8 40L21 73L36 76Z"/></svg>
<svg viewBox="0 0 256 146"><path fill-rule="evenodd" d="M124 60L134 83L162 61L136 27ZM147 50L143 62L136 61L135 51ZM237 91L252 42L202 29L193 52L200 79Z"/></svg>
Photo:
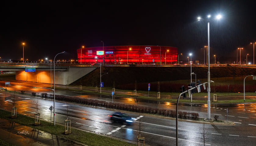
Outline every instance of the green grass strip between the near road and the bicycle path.
<svg viewBox="0 0 256 146"><path fill-rule="evenodd" d="M17 115L17 118L10 118L11 112L0 110L0 118L7 119L11 122L19 123L28 127L32 127L38 130L42 130L60 137L65 137L67 139L78 141L80 143L86 144L88 146L135 146L135 144L130 144L124 141L117 140L115 138L102 136L100 134L94 134L92 132L86 132L83 130L77 130L71 128L71 134L64 134L65 127L63 125L55 124L55 126L50 125L49 122L40 121L40 125L34 126L34 117L28 117L23 115ZM1 141L0 141L1 144Z"/></svg>

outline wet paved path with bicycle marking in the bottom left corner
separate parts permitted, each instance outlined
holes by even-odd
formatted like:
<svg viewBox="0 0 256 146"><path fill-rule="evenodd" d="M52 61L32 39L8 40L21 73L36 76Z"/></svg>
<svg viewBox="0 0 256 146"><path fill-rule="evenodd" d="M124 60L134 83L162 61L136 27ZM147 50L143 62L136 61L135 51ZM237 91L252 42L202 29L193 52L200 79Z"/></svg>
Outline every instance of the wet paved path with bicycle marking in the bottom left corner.
<svg viewBox="0 0 256 146"><path fill-rule="evenodd" d="M0 119L0 133L0 139L17 146L86 146L6 119Z"/></svg>

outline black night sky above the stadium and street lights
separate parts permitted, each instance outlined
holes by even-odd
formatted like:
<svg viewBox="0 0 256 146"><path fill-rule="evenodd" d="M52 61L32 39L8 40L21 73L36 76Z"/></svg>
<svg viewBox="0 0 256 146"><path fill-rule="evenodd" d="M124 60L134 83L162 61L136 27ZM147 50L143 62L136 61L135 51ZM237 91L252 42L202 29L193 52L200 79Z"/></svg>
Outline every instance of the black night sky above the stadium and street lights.
<svg viewBox="0 0 256 146"><path fill-rule="evenodd" d="M256 2L223 1L2 1L0 57L2 60L77 59L76 49L122 45L178 48L180 61L204 60L207 19L210 21L210 63L253 62ZM256 45L255 45L256 47ZM237 54L238 53L238 54ZM206 50L205 50L206 54ZM205 57L206 59L206 57ZM205 60L206 62L206 60ZM245 61L246 62L246 61ZM256 64L256 60L255 60Z"/></svg>

